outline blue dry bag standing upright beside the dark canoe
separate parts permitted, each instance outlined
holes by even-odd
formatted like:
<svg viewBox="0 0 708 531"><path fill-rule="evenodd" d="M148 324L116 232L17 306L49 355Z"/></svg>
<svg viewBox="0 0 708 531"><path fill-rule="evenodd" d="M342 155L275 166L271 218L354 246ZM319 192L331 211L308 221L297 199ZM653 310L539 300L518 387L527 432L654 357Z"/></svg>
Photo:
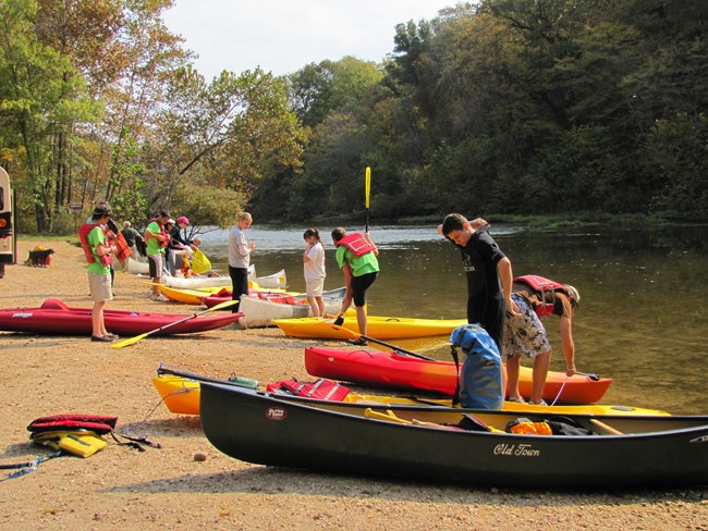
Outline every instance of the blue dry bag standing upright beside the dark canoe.
<svg viewBox="0 0 708 531"><path fill-rule="evenodd" d="M450 335L452 355L455 347L465 353L460 373L460 404L465 408L502 409L504 383L497 343L479 324L457 326Z"/></svg>

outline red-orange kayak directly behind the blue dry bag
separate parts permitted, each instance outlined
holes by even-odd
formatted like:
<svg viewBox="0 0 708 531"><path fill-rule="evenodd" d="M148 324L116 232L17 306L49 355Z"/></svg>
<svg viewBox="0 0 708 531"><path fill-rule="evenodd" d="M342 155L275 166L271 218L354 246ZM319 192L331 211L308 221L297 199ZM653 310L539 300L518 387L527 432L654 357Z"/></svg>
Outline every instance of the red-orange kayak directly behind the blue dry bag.
<svg viewBox="0 0 708 531"><path fill-rule="evenodd" d="M460 361L462 367L462 360ZM345 380L373 387L435 391L454 394L457 376L452 361L414 358L376 350L305 348L305 369L313 376ZM504 370L504 383L506 372ZM594 404L612 383L610 378L548 372L544 400L548 404ZM518 392L525 398L532 392L532 370L522 367ZM560 396L559 396L560 393ZM558 400L557 400L558 398Z"/></svg>

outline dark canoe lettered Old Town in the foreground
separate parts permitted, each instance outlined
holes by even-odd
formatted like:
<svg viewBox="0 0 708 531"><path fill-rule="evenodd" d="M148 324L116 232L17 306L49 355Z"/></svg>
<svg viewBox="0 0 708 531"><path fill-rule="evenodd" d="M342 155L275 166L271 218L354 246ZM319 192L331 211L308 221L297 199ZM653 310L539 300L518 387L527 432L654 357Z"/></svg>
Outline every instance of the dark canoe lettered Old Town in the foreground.
<svg viewBox="0 0 708 531"><path fill-rule="evenodd" d="M412 415L411 408L390 409L399 417ZM413 415L427 419L429 413ZM708 419L650 419L645 423L661 431L621 436L481 433L374 420L268 393L202 385L202 427L209 442L228 456L259 465L529 487L706 484Z"/></svg>

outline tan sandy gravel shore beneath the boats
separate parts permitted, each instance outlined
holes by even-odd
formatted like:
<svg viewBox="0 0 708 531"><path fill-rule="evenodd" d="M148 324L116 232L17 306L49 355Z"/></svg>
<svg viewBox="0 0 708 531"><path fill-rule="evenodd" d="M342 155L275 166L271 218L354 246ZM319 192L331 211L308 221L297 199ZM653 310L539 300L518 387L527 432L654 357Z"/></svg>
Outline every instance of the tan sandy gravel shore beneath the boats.
<svg viewBox="0 0 708 531"><path fill-rule="evenodd" d="M0 280L2 308L57 297L89 307L82 252L65 242L20 242L57 254L49 268L17 264ZM188 314L194 307L148 300L146 279L119 273L113 309ZM0 465L34 459L35 418L93 412L119 431L147 434L161 449L110 444L87 458L62 457L0 483L2 529L692 529L708 530L708 491L549 492L328 476L254 466L217 452L196 417L160 404L150 380L160 361L213 376L272 382L312 379L303 347L278 329L233 326L200 335L148 337L123 349L88 337L0 333ZM247 427L244 427L247 429ZM195 461L195 454L206 454ZM0 470L4 478L8 471Z"/></svg>

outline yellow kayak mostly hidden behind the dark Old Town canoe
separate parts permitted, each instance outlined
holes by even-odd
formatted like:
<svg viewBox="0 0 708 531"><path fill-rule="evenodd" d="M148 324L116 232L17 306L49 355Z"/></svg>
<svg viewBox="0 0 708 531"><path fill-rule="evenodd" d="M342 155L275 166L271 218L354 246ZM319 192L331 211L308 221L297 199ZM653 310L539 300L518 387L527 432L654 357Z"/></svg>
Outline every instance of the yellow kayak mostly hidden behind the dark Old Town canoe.
<svg viewBox="0 0 708 531"><path fill-rule="evenodd" d="M224 383L229 383L224 381ZM196 380L161 374L152 379L152 385L162 397L167 408L173 413L199 415L200 386ZM389 404L410 406L441 406L452 407L450 399L415 398L400 396L362 395L350 393L343 400L350 404ZM609 406L602 404L588 404L584 406L536 406L534 404L518 404L516 402L504 402L504 411L520 412L548 412L549 415L650 415L667 416L666 411L658 409L645 409L632 406Z"/></svg>

